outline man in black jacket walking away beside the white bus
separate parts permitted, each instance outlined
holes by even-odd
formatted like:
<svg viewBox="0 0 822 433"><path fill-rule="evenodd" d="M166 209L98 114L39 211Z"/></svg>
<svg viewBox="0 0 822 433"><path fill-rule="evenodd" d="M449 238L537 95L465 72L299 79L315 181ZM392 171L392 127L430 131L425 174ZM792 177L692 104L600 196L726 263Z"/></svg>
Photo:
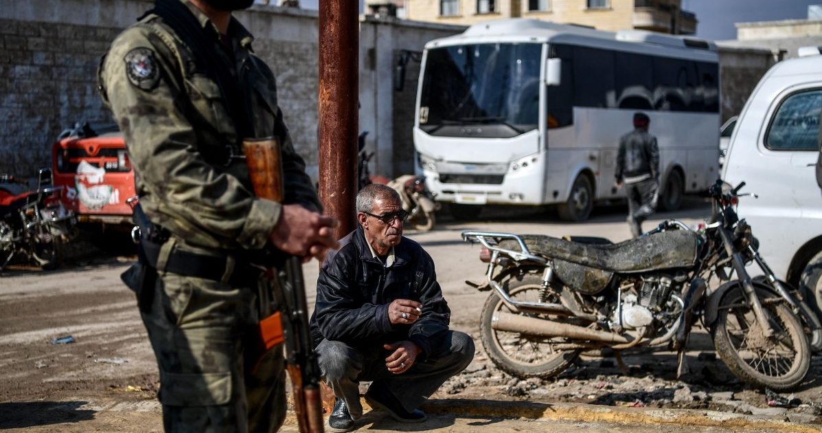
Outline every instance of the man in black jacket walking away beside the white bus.
<svg viewBox="0 0 822 433"><path fill-rule="evenodd" d="M659 189L659 148L657 138L648 133L647 114L634 114L634 130L619 140L617 188L625 184L628 195L628 225L635 238L642 235L642 222L657 208Z"/></svg>

